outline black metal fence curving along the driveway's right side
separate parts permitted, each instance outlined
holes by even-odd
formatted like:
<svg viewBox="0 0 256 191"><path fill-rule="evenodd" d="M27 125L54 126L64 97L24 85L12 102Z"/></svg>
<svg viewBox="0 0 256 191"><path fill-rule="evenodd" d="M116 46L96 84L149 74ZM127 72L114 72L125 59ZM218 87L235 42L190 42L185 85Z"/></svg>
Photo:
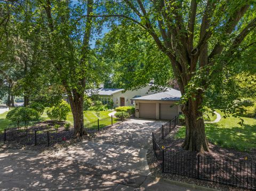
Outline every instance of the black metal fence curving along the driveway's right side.
<svg viewBox="0 0 256 191"><path fill-rule="evenodd" d="M163 172L256 190L256 163L163 149L160 143L175 127L173 123L170 122L169 129L165 124L153 132L153 150Z"/></svg>

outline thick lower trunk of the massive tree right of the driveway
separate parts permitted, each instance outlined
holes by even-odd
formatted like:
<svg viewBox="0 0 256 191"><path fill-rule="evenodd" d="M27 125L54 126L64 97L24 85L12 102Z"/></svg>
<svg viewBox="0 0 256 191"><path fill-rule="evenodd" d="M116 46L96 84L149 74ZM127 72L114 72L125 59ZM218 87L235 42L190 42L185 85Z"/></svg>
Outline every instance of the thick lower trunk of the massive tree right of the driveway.
<svg viewBox="0 0 256 191"><path fill-rule="evenodd" d="M182 147L188 151L209 152L205 136L203 112L199 111L202 105L202 97L189 98L182 111L186 120L186 137Z"/></svg>

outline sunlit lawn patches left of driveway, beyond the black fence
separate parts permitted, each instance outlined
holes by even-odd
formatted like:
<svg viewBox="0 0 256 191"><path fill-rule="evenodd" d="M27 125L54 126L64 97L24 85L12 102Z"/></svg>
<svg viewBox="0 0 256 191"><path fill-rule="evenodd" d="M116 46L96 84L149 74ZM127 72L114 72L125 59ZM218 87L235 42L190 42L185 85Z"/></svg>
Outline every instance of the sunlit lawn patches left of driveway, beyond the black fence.
<svg viewBox="0 0 256 191"><path fill-rule="evenodd" d="M109 111L100 111L99 112L100 115L98 117L96 111L84 111L84 124L95 122L98 119L101 120L101 119L108 118L106 120L101 120L100 121L100 128L108 126L108 125L111 124L111 119L109 118L108 113L110 113L110 112ZM5 119L6 114L7 114L7 112L0 114L0 130L10 128L11 121ZM40 120L41 121L50 120L50 118L47 117L46 111L43 113ZM68 113L66 121L70 122L71 124L74 123L73 115L72 115L71 112ZM116 122L117 122L117 119L113 118L113 123L116 123ZM31 125L33 125L35 123L36 122L31 122ZM95 128L95 127L98 128L98 122L95 122L95 124L92 124L90 127L91 128Z"/></svg>

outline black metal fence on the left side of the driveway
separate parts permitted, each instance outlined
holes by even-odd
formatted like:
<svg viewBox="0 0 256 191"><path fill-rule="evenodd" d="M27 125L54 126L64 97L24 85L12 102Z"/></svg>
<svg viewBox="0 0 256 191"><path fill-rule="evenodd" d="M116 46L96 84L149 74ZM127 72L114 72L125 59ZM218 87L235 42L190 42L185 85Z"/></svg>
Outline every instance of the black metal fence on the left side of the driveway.
<svg viewBox="0 0 256 191"><path fill-rule="evenodd" d="M50 130L18 130L18 129L5 129L0 131L0 143L4 144L21 144L21 145L46 145L50 146L54 143L65 142L71 138L77 137L77 134L82 136L86 131L89 134L106 129L113 126L114 123L129 120L129 118L116 119L113 116L98 119L91 123L84 124L84 127L75 132L74 128L64 129L50 129Z"/></svg>

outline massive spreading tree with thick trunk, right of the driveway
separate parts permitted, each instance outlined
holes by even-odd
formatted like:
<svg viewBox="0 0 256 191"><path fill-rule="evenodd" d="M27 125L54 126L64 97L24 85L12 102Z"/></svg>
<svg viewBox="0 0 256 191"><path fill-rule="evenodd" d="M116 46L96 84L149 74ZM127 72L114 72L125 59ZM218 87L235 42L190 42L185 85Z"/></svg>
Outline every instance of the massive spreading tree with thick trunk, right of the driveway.
<svg viewBox="0 0 256 191"><path fill-rule="evenodd" d="M230 58L255 46L255 1L113 0L104 1L103 5L106 9L87 16L131 21L167 55L186 118L182 147L209 151L201 110L204 94L211 80L229 67Z"/></svg>

